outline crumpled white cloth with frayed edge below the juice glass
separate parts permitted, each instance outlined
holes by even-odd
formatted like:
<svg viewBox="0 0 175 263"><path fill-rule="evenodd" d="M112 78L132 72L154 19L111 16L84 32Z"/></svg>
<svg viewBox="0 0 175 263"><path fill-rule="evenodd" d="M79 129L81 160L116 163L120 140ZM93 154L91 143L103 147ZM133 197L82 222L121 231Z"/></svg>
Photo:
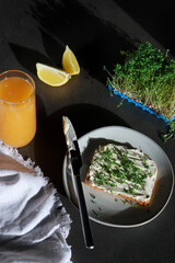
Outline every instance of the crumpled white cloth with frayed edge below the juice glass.
<svg viewBox="0 0 175 263"><path fill-rule="evenodd" d="M0 262L69 263L70 224L42 170L0 141Z"/></svg>

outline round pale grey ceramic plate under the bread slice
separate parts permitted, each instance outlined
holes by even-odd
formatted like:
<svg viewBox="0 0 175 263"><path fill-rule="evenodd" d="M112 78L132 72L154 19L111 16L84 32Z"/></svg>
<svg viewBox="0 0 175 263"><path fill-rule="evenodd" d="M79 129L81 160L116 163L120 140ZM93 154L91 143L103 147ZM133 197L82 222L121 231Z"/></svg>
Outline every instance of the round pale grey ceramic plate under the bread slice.
<svg viewBox="0 0 175 263"><path fill-rule="evenodd" d="M89 216L92 220L110 227L137 227L154 219L167 205L174 187L174 174L171 162L152 139L130 128L108 126L92 130L79 139L83 167L81 179L84 180L92 155L98 145L104 142L130 144L132 147L149 155L158 165L158 182L154 198L148 207L133 207L121 199L94 190L83 184ZM70 172L68 158L63 161L63 184L68 197L78 207L78 198L73 176Z"/></svg>

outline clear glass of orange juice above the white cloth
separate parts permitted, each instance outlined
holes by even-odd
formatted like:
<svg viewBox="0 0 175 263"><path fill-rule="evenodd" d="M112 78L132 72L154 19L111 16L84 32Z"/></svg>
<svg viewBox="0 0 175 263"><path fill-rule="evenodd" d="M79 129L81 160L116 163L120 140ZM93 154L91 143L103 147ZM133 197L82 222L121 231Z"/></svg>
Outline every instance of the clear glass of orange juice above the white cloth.
<svg viewBox="0 0 175 263"><path fill-rule="evenodd" d="M27 145L36 133L35 82L25 72L0 75L0 139L12 147Z"/></svg>

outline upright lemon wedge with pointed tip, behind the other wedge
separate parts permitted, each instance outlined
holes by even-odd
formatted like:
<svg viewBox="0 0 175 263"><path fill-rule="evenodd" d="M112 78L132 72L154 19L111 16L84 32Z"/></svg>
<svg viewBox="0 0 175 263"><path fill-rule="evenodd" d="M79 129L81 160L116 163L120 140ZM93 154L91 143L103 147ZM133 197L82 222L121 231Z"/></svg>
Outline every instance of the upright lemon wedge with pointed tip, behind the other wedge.
<svg viewBox="0 0 175 263"><path fill-rule="evenodd" d="M65 53L62 55L62 68L70 75L80 73L79 62L69 46L66 46Z"/></svg>

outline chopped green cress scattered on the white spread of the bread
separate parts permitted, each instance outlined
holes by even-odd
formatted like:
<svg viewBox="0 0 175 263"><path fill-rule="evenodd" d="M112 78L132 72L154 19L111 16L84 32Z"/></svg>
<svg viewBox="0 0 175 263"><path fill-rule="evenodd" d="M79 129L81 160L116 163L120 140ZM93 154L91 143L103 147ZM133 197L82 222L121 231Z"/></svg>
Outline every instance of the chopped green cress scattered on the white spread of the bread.
<svg viewBox="0 0 175 263"><path fill-rule="evenodd" d="M142 160L144 169L136 165L135 161L129 158L129 150L120 150L119 148L100 148L98 156L95 159L100 169L94 169L94 182L97 185L109 186L108 190L113 193L113 188L118 184L127 184L129 187L124 187L127 194L135 195L136 191L144 190L144 183L148 174L151 174L147 158Z"/></svg>

